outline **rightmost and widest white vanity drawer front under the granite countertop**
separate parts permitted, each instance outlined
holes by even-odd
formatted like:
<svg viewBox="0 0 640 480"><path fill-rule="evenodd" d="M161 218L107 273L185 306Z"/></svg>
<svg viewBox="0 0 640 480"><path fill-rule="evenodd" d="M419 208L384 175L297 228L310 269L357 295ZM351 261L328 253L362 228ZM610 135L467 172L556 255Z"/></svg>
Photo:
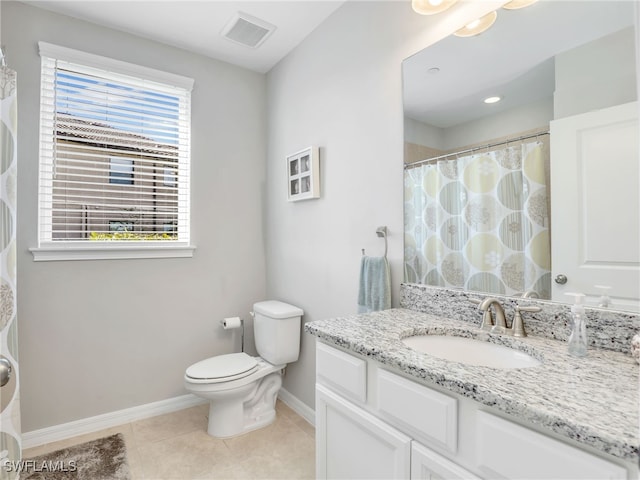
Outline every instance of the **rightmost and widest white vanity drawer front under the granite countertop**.
<svg viewBox="0 0 640 480"><path fill-rule="evenodd" d="M626 479L627 471L559 440L478 412L477 465L499 478Z"/></svg>

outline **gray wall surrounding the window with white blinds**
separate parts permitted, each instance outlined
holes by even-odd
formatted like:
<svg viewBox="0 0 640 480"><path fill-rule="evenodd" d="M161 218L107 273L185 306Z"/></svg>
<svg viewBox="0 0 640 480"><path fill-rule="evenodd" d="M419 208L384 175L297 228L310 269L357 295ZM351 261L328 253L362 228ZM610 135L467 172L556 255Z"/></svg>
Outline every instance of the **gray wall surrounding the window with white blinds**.
<svg viewBox="0 0 640 480"><path fill-rule="evenodd" d="M18 72L23 431L185 394L188 365L239 348L218 320L247 318L265 298L265 76L24 4L1 8ZM39 40L195 79L193 258L33 262Z"/></svg>

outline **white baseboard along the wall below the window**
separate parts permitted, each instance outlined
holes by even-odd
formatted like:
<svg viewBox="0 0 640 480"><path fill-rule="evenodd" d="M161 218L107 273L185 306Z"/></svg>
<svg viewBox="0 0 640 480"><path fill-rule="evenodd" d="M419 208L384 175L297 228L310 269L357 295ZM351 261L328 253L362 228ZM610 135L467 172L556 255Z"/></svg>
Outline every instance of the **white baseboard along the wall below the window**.
<svg viewBox="0 0 640 480"><path fill-rule="evenodd" d="M61 425L33 430L22 434L22 448L37 447L45 443L57 442L58 440L64 440L77 435L97 432L98 430L155 417L156 415L164 415L165 413L175 412L206 402L206 400L189 393L167 400L160 400L159 402L147 403L137 407L96 415L95 417L83 418Z"/></svg>

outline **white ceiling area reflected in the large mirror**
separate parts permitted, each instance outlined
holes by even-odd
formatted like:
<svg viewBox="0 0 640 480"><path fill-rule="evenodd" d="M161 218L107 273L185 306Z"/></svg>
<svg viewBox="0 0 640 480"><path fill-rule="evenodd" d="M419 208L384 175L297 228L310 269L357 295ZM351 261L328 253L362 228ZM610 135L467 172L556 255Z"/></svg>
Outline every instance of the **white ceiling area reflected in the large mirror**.
<svg viewBox="0 0 640 480"><path fill-rule="evenodd" d="M551 98L555 55L631 26L633 18L634 2L624 0L500 9L485 33L449 36L403 62L405 115L446 128ZM440 71L428 73L432 67ZM484 104L491 95L503 101Z"/></svg>

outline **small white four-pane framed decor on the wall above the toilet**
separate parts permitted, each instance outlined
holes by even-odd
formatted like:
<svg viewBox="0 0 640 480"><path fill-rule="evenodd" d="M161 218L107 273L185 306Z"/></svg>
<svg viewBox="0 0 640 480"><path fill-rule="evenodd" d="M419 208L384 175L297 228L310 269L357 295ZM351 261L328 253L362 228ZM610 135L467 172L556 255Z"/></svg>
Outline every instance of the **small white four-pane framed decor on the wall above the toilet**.
<svg viewBox="0 0 640 480"><path fill-rule="evenodd" d="M287 198L290 202L320 198L320 149L307 147L287 156Z"/></svg>

